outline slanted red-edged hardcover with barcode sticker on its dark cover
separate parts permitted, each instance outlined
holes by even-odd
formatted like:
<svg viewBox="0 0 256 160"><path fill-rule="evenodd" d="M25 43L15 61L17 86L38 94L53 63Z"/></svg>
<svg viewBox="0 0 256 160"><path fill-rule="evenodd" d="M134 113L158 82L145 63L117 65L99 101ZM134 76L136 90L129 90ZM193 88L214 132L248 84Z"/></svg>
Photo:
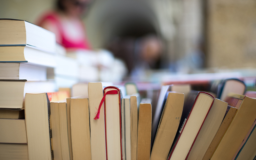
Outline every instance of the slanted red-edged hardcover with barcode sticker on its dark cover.
<svg viewBox="0 0 256 160"><path fill-rule="evenodd" d="M207 92L191 91L184 102L178 132L168 160L185 160L204 124L214 98Z"/></svg>

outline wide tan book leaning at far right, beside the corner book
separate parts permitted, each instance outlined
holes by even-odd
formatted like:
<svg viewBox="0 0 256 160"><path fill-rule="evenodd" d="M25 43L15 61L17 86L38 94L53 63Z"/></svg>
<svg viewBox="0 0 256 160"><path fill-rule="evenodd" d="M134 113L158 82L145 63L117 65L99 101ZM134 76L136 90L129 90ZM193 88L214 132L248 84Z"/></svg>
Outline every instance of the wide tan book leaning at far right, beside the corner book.
<svg viewBox="0 0 256 160"><path fill-rule="evenodd" d="M211 159L232 159L255 119L256 99L245 96Z"/></svg>

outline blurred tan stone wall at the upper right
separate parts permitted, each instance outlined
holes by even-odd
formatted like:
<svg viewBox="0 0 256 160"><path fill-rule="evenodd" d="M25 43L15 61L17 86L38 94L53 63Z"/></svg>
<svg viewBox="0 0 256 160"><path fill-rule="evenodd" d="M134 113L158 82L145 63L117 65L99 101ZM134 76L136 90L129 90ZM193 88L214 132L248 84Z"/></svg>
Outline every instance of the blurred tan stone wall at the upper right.
<svg viewBox="0 0 256 160"><path fill-rule="evenodd" d="M208 0L207 67L256 67L256 1Z"/></svg>

